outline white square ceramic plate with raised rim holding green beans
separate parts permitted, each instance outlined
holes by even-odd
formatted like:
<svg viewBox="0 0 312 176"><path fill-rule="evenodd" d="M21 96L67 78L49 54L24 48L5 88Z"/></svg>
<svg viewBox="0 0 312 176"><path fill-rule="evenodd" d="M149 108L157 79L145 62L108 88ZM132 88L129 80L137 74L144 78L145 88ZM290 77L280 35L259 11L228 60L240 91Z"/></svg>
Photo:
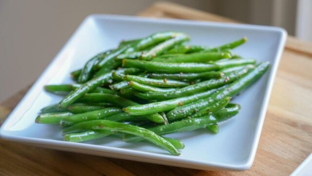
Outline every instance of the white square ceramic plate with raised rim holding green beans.
<svg viewBox="0 0 312 176"><path fill-rule="evenodd" d="M247 36L249 41L237 49L258 62L270 61L271 68L252 87L233 99L242 109L234 118L220 124L220 132L206 130L168 136L185 144L180 156L147 143L124 143L105 137L86 142L62 140L58 126L35 124L39 110L59 102L61 97L43 91L47 84L71 83L70 72L84 65L97 53L116 47L123 39L134 39L160 31L181 31L190 35L191 44L215 46ZM37 146L122 159L202 170L246 170L252 166L267 110L273 79L286 40L277 27L224 24L216 22L145 19L115 15L87 17L45 69L0 129L2 138Z"/></svg>

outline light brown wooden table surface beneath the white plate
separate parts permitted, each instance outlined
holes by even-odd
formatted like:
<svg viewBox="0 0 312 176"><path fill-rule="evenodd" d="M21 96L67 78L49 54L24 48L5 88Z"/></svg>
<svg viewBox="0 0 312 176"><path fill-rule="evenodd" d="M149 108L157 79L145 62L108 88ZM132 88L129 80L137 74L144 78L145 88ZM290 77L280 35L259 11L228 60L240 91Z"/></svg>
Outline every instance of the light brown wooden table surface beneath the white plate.
<svg viewBox="0 0 312 176"><path fill-rule="evenodd" d="M138 14L235 22L170 2L158 2ZM312 44L288 37L276 75L259 146L250 170L215 172L75 154L0 139L0 175L289 175L312 153ZM0 123L28 88L0 103Z"/></svg>

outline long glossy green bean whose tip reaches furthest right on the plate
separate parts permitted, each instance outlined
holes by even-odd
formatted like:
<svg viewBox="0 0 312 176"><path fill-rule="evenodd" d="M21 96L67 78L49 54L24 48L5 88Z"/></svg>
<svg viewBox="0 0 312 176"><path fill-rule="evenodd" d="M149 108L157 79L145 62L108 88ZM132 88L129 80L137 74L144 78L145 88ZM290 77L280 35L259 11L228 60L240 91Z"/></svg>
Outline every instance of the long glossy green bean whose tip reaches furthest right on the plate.
<svg viewBox="0 0 312 176"><path fill-rule="evenodd" d="M220 99L230 96L233 97L241 90L247 88L255 81L257 81L269 68L269 62L263 62L258 64L255 68L251 69L246 75L242 76L238 80L234 81L227 88L223 88L220 91L215 92L213 95L208 97L206 100L198 100L189 105L177 107L174 110L169 111L166 115L168 119L178 119L183 118L188 115L192 115L195 110L202 109L204 107L210 106Z"/></svg>

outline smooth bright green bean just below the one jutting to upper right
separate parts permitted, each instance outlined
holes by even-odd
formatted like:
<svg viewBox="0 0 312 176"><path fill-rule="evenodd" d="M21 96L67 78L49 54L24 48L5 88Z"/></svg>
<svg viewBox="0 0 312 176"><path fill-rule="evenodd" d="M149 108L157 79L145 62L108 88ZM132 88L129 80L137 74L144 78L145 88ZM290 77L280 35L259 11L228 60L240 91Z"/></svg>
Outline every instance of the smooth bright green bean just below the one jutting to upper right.
<svg viewBox="0 0 312 176"><path fill-rule="evenodd" d="M183 56L178 56L169 59L162 59L158 62L165 63L204 63L208 61L216 61L224 58L231 58L231 54L227 52L206 52L206 53L191 53ZM155 62L155 60L152 60Z"/></svg>

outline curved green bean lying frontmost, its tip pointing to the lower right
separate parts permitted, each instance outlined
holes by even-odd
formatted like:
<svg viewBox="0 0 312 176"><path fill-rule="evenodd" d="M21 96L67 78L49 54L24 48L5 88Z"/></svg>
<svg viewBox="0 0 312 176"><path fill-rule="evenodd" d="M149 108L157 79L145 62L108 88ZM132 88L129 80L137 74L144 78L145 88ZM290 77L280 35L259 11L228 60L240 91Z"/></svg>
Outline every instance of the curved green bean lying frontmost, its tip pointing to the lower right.
<svg viewBox="0 0 312 176"><path fill-rule="evenodd" d="M176 150L176 148L166 139L158 136L155 132L151 132L141 127L113 122L109 120L86 121L78 123L74 126L83 127L86 130L109 130L112 132L124 132L128 134L133 134L139 137L143 137L144 139L167 150L171 154L179 155L179 152Z"/></svg>

